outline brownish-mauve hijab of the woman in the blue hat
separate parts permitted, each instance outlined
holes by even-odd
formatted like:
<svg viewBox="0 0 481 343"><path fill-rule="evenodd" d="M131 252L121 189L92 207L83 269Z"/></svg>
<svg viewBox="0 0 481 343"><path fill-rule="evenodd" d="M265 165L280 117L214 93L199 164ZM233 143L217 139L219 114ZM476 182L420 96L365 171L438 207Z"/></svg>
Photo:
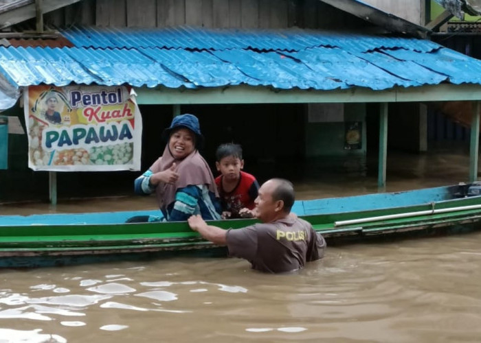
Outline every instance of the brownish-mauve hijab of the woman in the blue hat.
<svg viewBox="0 0 481 343"><path fill-rule="evenodd" d="M176 170L179 178L175 184L161 182L157 185L155 192L157 193L160 209L166 209L170 203L175 201L177 189L187 187L188 185L208 185L209 191L215 193L216 198L219 198L212 171L197 149L194 149L186 158L176 160L170 154L167 144L162 156L149 169L153 173L157 173L169 169L172 167L172 163L177 165Z"/></svg>

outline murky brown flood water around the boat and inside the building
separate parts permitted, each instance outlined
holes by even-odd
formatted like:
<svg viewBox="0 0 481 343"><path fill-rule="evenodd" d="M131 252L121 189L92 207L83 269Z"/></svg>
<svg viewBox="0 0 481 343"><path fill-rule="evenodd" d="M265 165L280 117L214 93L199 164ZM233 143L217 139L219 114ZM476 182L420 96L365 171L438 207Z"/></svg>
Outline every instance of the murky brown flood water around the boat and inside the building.
<svg viewBox="0 0 481 343"><path fill-rule="evenodd" d="M467 181L464 154L396 156L388 191ZM356 165L298 198L377 191ZM315 169L315 168L313 168ZM315 174L315 173L313 173ZM2 214L155 207L153 198L0 206ZM481 233L328 247L293 274L172 257L0 272L0 342L479 342Z"/></svg>

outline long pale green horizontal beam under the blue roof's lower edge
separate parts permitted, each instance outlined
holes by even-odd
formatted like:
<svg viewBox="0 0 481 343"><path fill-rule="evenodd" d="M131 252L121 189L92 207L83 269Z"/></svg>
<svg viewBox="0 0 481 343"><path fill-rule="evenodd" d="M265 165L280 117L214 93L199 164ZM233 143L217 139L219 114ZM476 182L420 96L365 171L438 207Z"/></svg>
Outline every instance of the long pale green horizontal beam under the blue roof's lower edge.
<svg viewBox="0 0 481 343"><path fill-rule="evenodd" d="M274 90L263 86L225 88L135 88L137 102L155 104L309 104L326 102L439 102L481 100L481 85L439 84L436 86L395 87L385 91L349 88L334 91L302 89Z"/></svg>

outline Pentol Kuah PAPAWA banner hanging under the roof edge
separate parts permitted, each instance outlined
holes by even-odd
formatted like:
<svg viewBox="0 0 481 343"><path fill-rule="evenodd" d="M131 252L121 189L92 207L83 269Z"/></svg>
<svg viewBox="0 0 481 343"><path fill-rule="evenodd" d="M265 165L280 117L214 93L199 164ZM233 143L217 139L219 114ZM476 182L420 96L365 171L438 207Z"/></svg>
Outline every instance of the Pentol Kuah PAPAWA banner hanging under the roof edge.
<svg viewBox="0 0 481 343"><path fill-rule="evenodd" d="M25 88L28 166L49 171L139 170L142 117L134 95L124 86Z"/></svg>

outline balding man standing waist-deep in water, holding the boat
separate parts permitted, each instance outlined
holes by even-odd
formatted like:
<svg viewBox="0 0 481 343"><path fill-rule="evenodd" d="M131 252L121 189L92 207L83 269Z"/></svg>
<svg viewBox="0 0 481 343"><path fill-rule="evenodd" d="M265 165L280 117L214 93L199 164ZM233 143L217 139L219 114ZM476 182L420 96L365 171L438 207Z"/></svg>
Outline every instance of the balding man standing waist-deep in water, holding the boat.
<svg viewBox="0 0 481 343"><path fill-rule="evenodd" d="M326 249L322 235L291 214L294 199L292 183L273 178L260 187L255 200L254 215L261 223L224 230L208 225L200 215L192 215L188 223L204 239L227 246L231 256L247 259L255 270L290 272L322 259Z"/></svg>

